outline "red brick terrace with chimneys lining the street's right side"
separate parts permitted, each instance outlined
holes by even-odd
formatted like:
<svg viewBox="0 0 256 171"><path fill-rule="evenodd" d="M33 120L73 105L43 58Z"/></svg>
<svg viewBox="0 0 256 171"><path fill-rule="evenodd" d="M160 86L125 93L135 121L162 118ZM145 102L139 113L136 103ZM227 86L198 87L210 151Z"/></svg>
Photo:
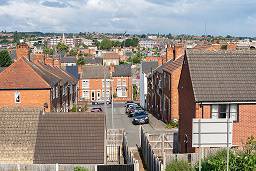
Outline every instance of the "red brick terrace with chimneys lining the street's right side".
<svg viewBox="0 0 256 171"><path fill-rule="evenodd" d="M184 46L168 46L166 56L160 65L148 77L148 110L158 119L170 122L179 119L178 83L184 59Z"/></svg>

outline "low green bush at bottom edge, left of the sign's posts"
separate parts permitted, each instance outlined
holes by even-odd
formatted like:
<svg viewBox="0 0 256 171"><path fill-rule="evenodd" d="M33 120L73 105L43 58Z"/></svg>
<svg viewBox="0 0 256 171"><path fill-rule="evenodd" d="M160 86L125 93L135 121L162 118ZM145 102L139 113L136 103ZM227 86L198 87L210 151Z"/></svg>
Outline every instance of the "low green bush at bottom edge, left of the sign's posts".
<svg viewBox="0 0 256 171"><path fill-rule="evenodd" d="M193 167L186 161L174 160L166 166L166 171L194 171Z"/></svg>

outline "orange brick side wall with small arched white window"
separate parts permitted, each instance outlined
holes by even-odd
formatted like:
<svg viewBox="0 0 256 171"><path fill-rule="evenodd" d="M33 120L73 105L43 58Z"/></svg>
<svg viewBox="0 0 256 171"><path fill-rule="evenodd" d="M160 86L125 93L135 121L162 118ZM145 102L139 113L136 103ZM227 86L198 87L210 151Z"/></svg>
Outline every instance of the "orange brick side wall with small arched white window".
<svg viewBox="0 0 256 171"><path fill-rule="evenodd" d="M46 112L50 112L50 90L18 90L21 95L21 102L15 103L16 90L0 90L1 107L44 107L48 104Z"/></svg>

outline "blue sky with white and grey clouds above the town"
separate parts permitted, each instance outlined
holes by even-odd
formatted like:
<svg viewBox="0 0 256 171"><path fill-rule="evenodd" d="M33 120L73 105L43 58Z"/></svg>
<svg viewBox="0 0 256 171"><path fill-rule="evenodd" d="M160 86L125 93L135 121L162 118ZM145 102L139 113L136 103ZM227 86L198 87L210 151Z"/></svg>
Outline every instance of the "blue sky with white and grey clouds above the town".
<svg viewBox="0 0 256 171"><path fill-rule="evenodd" d="M255 0L0 0L0 30L256 36Z"/></svg>

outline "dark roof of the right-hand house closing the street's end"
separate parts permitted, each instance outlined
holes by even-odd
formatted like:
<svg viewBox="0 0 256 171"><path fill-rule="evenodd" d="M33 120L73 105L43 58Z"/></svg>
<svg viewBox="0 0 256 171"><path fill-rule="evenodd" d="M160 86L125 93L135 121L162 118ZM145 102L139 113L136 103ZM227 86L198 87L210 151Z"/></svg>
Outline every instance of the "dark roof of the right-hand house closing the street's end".
<svg viewBox="0 0 256 171"><path fill-rule="evenodd" d="M132 69L130 64L122 64L114 66L115 70L112 74L113 77L131 77Z"/></svg>

